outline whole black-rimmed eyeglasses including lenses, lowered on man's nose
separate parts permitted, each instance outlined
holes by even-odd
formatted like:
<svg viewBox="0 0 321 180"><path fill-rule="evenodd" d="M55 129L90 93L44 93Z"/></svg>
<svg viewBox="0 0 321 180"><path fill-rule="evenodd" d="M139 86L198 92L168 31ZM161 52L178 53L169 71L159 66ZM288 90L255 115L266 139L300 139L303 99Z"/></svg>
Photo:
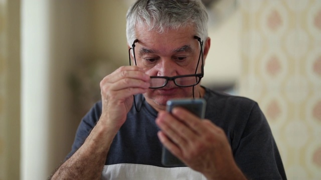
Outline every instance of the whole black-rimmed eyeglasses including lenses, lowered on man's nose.
<svg viewBox="0 0 321 180"><path fill-rule="evenodd" d="M150 76L150 86L149 88L162 88L166 86L166 84L169 82L169 80L173 80L175 85L179 87L190 87L190 86L195 86L198 83L200 83L202 77L204 76L204 59L203 59L203 40L201 40L200 37L194 36L195 39L197 39L200 42L201 50L200 50L200 55L199 59L197 62L196 70L194 74L187 74L187 75L176 75L176 76ZM134 62L136 64L136 56L135 56L135 43L138 42L138 39L135 39L131 48L128 50L129 54L129 65L131 65L131 60L130 60L130 50L132 49L133 51L133 57L134 57ZM202 65L201 65L201 73L197 73L197 69L200 63L200 59L202 57Z"/></svg>

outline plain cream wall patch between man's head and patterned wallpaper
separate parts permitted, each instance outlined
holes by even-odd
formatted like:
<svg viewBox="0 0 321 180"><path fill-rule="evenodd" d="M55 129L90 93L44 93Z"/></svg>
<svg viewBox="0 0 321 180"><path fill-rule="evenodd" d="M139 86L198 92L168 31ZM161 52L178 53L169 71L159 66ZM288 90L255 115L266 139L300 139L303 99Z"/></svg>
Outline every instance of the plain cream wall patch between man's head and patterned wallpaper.
<svg viewBox="0 0 321 180"><path fill-rule="evenodd" d="M211 17L210 17L211 19ZM204 67L202 84L221 86L234 84L241 72L241 11L226 15L219 24L209 23L211 47ZM228 53L227 53L228 52Z"/></svg>

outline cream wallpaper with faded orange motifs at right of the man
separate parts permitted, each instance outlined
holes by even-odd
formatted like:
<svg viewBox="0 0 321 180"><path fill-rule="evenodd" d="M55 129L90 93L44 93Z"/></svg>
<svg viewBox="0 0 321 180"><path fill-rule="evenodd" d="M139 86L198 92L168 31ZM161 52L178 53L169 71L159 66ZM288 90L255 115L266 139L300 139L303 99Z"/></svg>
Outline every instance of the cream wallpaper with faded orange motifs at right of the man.
<svg viewBox="0 0 321 180"><path fill-rule="evenodd" d="M321 0L240 3L240 94L264 111L288 179L320 179Z"/></svg>

